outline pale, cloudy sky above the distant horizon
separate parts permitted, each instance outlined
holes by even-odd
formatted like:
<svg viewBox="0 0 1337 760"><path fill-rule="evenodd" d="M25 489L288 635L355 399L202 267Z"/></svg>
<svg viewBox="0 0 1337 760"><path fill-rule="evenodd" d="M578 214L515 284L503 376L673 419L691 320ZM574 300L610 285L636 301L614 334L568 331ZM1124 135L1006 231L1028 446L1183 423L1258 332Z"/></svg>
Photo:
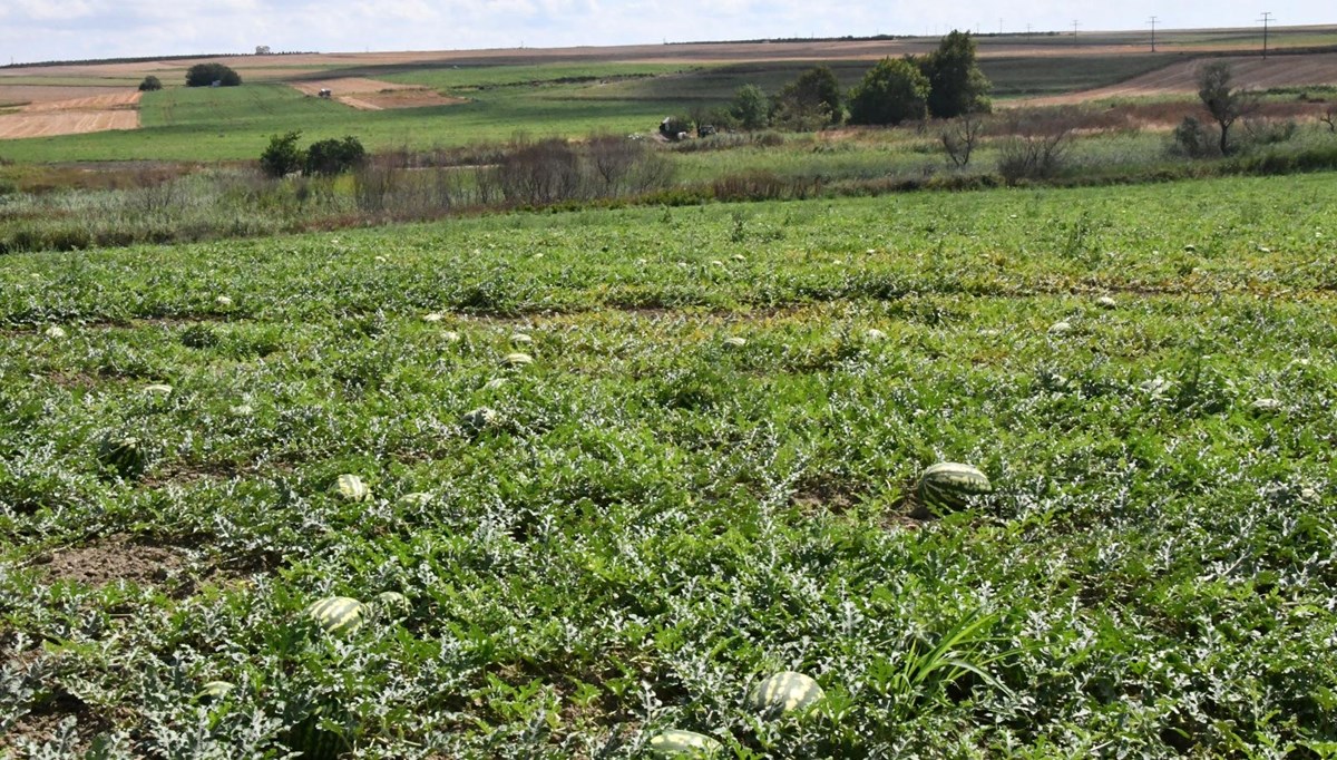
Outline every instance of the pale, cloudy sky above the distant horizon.
<svg viewBox="0 0 1337 760"><path fill-rule="evenodd" d="M1332 0L0 0L0 66L864 35L1337 23Z"/></svg>

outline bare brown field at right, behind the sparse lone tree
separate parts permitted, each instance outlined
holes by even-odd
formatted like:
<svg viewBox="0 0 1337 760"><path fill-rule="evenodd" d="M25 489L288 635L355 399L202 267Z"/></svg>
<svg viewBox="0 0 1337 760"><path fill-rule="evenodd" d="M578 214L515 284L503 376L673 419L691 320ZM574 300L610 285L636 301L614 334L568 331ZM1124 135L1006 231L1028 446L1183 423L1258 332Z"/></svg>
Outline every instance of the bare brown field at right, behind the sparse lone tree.
<svg viewBox="0 0 1337 760"><path fill-rule="evenodd" d="M1337 54L1310 54L1273 56L1263 60L1250 58L1221 58L1231 66L1231 83L1250 90L1270 87L1337 86ZM1091 100L1114 98L1146 98L1155 95L1193 95L1198 91L1198 68L1201 60L1186 60L1157 71L1143 74L1120 84L1052 95L1012 100L1008 106L1068 106Z"/></svg>

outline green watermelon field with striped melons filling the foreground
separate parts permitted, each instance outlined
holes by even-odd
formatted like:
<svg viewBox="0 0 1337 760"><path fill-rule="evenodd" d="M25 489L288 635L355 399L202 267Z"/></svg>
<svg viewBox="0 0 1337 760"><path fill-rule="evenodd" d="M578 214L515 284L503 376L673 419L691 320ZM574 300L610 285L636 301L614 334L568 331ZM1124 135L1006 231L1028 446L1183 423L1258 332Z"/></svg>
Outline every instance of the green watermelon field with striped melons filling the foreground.
<svg viewBox="0 0 1337 760"><path fill-rule="evenodd" d="M0 756L1334 757L1334 264L1330 174L5 256Z"/></svg>

